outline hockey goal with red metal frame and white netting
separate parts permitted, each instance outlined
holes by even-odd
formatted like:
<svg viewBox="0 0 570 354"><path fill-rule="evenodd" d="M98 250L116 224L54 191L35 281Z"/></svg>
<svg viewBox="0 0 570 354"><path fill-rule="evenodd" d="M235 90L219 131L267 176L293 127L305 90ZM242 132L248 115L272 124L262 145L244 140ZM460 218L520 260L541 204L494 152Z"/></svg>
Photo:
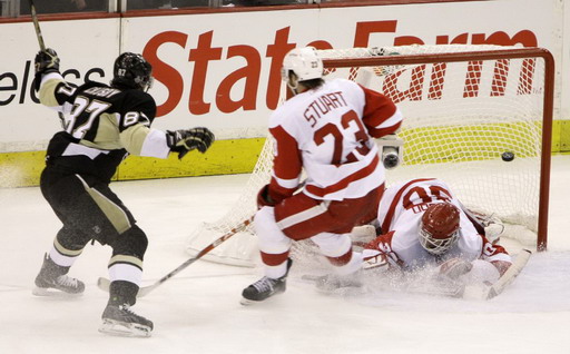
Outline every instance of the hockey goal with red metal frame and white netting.
<svg viewBox="0 0 570 354"><path fill-rule="evenodd" d="M402 110L403 161L386 171L387 185L441 178L465 206L505 223L510 232L503 236L546 249L553 109L550 52L450 45L332 49L320 56L326 79L354 80L391 97ZM255 213L272 159L268 138L230 210L191 234L190 254ZM252 266L258 257L256 242L248 226L204 258Z"/></svg>

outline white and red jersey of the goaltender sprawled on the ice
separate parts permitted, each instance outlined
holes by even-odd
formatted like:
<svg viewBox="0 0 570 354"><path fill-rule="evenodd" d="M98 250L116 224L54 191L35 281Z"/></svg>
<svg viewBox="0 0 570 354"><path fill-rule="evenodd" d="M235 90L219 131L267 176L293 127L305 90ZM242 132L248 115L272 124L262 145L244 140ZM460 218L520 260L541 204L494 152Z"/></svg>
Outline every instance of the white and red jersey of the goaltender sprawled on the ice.
<svg viewBox="0 0 570 354"><path fill-rule="evenodd" d="M460 237L449 252L436 259L422 247L417 235L428 206L444 201L453 204L460 210ZM412 179L391 186L382 196L377 219L383 235L373 244L404 268L435 265L455 257L469 262L511 262L503 247L491 244L478 233L458 198L440 179Z"/></svg>

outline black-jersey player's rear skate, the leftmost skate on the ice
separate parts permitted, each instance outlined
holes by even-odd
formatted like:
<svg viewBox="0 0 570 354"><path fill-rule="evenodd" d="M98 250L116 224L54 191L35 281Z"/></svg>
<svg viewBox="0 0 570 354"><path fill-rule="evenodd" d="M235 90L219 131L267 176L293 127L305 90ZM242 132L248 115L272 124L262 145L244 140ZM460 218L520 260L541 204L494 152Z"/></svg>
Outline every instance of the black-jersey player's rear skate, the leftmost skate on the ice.
<svg viewBox="0 0 570 354"><path fill-rule="evenodd" d="M40 273L36 277L36 287L32 289L32 294L38 296L82 295L83 282L67 276L68 271L69 267L57 265L49 255L46 255Z"/></svg>

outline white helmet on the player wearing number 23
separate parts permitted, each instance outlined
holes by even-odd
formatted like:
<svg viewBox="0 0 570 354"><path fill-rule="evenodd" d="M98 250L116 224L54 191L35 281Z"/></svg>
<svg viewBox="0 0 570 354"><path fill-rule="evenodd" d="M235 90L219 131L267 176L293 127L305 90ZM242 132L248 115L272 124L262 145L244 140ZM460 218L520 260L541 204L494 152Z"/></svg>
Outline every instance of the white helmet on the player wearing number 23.
<svg viewBox="0 0 570 354"><path fill-rule="evenodd" d="M314 47L295 48L283 59L283 80L288 82L291 71L295 73L297 81L320 79L323 77L323 60L318 58Z"/></svg>

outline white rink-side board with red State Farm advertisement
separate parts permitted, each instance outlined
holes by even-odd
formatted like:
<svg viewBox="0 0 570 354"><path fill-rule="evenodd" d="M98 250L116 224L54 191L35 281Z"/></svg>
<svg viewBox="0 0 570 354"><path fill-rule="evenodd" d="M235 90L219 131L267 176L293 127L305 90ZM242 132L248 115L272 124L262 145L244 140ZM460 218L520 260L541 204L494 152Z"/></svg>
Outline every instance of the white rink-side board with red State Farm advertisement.
<svg viewBox="0 0 570 354"><path fill-rule="evenodd" d="M82 27L78 21L41 24L47 45L61 55L62 70L71 70L67 79L108 82L119 50L142 52L154 66L150 94L159 116L155 127L207 126L218 138L229 139L266 135L268 115L285 94L281 61L295 47L543 47L560 65L560 3L524 3L525 9L520 1L505 0L125 18L90 20ZM4 48L9 37L21 40L12 43L20 49L8 52L0 70L0 112L3 127L9 127L0 131L0 148L26 149L48 139L58 118L36 104L31 89L31 48L37 48L31 23L1 28ZM58 36L63 32L73 36ZM568 118L561 114L568 111L561 87L557 82L556 119Z"/></svg>

